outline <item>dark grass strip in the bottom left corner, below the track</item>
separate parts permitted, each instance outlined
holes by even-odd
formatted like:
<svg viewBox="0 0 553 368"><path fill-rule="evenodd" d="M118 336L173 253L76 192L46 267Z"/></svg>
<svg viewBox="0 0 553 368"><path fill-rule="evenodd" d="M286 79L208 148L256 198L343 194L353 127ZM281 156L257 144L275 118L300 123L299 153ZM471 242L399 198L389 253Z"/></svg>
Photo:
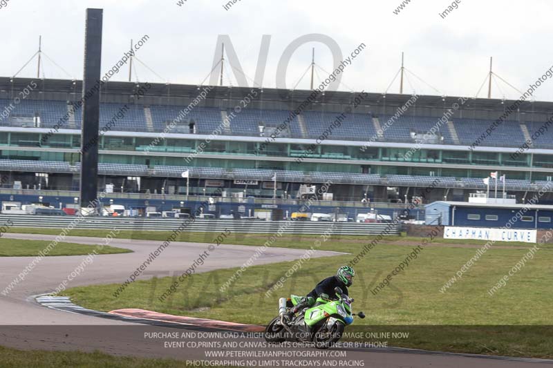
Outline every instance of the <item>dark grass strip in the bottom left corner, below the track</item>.
<svg viewBox="0 0 553 368"><path fill-rule="evenodd" d="M0 346L0 367L3 368L191 368L185 362L171 359L116 357L95 351L24 351Z"/></svg>

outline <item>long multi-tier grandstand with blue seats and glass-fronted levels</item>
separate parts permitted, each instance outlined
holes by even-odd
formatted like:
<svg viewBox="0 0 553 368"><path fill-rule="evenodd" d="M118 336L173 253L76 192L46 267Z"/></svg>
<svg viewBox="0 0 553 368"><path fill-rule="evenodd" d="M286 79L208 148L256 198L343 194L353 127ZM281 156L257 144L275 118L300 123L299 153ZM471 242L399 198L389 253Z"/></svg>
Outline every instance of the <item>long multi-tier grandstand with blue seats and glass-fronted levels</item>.
<svg viewBox="0 0 553 368"><path fill-rule="evenodd" d="M31 80L0 78L0 111L13 104ZM10 192L15 182L21 182L22 188L40 184L42 190L78 190L81 111L48 139L42 138L73 110L82 82L41 79L37 84L28 98L9 109L8 117L0 119L3 195L16 193ZM371 93L352 109L349 104L355 93L327 92L290 119L272 142L270 134L306 101L310 91L257 89L257 97L243 106L241 99L250 88L214 87L205 101L169 129L200 87L151 84L146 95L137 99L135 91L140 87L126 82L102 87L101 127L122 106L129 110L100 138L100 188L114 184L122 191L182 195L181 173L188 170L191 195L224 186L229 193L247 189L246 195L270 198L276 173L279 198L298 197L301 184L330 180L335 200L359 202L365 196L373 202L410 200L434 182L435 189L426 199L431 202L466 200L469 193L485 189L482 178L490 171L507 176L506 189L518 200L551 180L553 140L549 138L553 133L545 133L516 159L509 155L549 119L552 103L525 102L469 151L468 146L503 114L509 101L469 99L447 124L427 135L457 97L419 96L404 115L382 129L411 96ZM238 111L236 106L243 108ZM317 142L340 113L346 114L341 126ZM205 147L198 150L203 143ZM306 154L311 144L316 148ZM406 155L413 147L420 149ZM298 162L297 157L304 159ZM48 173L48 181L37 173ZM138 186L133 182L137 177L141 178ZM544 202L552 199L543 197Z"/></svg>

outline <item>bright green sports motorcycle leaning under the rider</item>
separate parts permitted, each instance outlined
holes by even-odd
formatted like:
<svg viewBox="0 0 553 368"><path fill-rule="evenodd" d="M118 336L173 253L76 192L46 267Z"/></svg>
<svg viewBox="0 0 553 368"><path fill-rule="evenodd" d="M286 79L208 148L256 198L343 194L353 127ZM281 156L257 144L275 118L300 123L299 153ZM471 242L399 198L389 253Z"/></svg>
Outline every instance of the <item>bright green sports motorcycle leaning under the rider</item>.
<svg viewBox="0 0 553 368"><path fill-rule="evenodd" d="M328 349L340 340L347 325L353 323L353 316L365 318L365 313L352 313L349 298L337 287L338 300L317 298L315 305L300 311L290 319L288 316L292 307L301 300L300 296L280 298L279 316L275 317L265 328L267 342L313 342L317 349Z"/></svg>

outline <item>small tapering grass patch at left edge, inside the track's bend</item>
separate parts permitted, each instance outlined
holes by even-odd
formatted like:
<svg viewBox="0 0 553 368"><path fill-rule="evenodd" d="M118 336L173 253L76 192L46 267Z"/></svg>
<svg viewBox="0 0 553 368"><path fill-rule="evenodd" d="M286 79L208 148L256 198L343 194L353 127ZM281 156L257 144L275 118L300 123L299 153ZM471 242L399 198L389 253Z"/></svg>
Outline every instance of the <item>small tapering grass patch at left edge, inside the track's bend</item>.
<svg viewBox="0 0 553 368"><path fill-rule="evenodd" d="M59 234L59 231L58 233ZM19 240L0 238L0 257L34 257L39 255L40 251L44 251L50 242L45 240ZM98 247L96 245L75 244L60 242L46 254L48 257L57 255L85 255L92 253L94 250L97 254L116 254L129 253L129 249L116 248L114 246Z"/></svg>

